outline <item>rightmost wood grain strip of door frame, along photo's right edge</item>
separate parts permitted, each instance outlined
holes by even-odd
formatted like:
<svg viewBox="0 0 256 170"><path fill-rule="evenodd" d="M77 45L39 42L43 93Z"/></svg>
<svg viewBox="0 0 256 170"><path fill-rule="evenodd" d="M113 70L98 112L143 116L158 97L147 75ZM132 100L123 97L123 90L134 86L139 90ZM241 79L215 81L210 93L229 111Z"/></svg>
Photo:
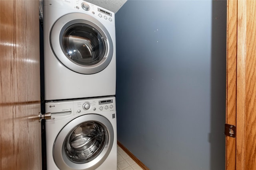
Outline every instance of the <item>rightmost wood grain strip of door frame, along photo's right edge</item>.
<svg viewBox="0 0 256 170"><path fill-rule="evenodd" d="M246 105L244 170L256 170L256 1L246 1Z"/></svg>

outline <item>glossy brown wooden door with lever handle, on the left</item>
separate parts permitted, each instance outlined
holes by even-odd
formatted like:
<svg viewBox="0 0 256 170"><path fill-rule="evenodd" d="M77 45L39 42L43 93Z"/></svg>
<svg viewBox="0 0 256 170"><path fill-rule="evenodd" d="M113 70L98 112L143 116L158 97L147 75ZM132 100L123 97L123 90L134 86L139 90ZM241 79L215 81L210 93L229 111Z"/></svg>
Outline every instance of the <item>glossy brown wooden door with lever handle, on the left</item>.
<svg viewBox="0 0 256 170"><path fill-rule="evenodd" d="M0 0L0 169L40 170L38 1Z"/></svg>

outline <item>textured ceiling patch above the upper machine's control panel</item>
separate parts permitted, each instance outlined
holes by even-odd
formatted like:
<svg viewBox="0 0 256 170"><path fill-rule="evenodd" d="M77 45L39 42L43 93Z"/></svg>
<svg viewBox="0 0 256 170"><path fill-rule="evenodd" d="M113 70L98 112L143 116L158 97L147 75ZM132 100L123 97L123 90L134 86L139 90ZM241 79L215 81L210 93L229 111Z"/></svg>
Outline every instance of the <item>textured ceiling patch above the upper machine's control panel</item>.
<svg viewBox="0 0 256 170"><path fill-rule="evenodd" d="M127 0L86 0L111 12L118 12Z"/></svg>

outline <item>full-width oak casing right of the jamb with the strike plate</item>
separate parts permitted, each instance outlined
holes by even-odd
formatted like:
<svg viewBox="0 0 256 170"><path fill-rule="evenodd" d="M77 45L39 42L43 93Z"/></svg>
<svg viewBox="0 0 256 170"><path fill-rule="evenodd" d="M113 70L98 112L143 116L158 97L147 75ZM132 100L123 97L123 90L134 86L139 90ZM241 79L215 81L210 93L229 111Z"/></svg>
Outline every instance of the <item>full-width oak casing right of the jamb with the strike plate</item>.
<svg viewBox="0 0 256 170"><path fill-rule="evenodd" d="M236 169L256 169L256 1L238 1Z"/></svg>

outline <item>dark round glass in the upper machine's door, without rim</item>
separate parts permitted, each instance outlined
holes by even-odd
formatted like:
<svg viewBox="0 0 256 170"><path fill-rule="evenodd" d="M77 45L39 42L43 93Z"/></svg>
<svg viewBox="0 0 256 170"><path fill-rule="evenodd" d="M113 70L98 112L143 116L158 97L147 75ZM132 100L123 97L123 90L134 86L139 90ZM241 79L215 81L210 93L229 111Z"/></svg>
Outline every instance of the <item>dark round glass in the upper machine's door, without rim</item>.
<svg viewBox="0 0 256 170"><path fill-rule="evenodd" d="M64 31L62 46L66 57L84 66L99 63L106 51L100 32L84 23L76 23Z"/></svg>

